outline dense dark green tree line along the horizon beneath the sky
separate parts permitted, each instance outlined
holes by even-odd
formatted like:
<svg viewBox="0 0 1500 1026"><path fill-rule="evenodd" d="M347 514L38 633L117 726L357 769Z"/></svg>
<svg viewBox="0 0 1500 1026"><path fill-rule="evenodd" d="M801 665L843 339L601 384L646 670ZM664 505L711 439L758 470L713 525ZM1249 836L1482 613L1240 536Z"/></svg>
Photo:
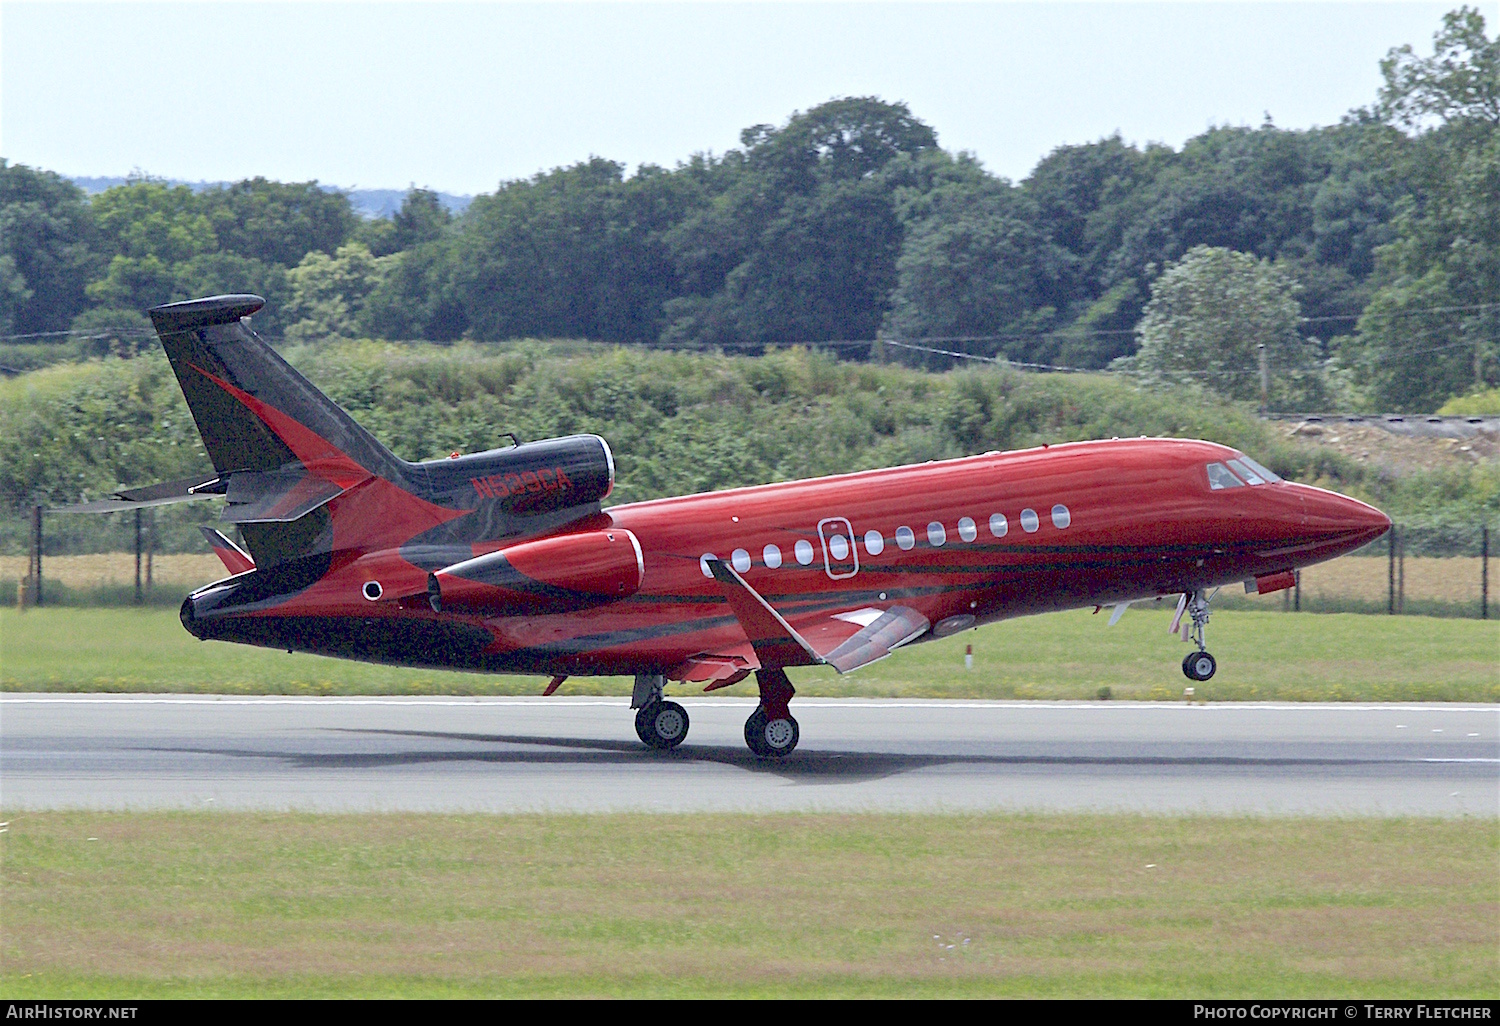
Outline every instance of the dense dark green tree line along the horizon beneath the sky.
<svg viewBox="0 0 1500 1026"><path fill-rule="evenodd" d="M1280 402L1431 410L1500 386L1500 39L1462 8L1432 56L1400 48L1382 72L1332 128L1215 128L1180 150L1116 135L1020 183L874 98L675 168L594 158L506 182L458 219L424 190L362 220L316 183L262 178L87 200L0 162L0 332L144 327L159 302L256 291L260 327L291 340L940 339L1252 398L1254 346L1222 339L1274 316Z"/></svg>

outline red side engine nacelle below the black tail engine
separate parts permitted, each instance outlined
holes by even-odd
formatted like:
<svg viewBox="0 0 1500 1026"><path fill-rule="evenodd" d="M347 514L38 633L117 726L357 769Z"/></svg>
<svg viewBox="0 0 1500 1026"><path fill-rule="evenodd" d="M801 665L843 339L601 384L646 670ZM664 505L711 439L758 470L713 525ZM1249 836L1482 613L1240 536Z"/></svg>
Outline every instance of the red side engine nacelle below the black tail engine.
<svg viewBox="0 0 1500 1026"><path fill-rule="evenodd" d="M508 616L562 612L633 596L645 578L640 542L624 530L561 534L428 574L435 612Z"/></svg>

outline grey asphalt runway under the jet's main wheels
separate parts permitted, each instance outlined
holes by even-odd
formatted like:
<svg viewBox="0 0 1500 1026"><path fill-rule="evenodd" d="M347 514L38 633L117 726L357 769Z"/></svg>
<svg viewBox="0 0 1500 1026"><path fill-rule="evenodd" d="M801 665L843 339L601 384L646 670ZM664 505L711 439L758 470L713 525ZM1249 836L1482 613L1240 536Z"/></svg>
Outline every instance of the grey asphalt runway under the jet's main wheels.
<svg viewBox="0 0 1500 1026"><path fill-rule="evenodd" d="M0 806L420 812L1100 810L1500 818L1500 706L681 699L0 698Z"/></svg>

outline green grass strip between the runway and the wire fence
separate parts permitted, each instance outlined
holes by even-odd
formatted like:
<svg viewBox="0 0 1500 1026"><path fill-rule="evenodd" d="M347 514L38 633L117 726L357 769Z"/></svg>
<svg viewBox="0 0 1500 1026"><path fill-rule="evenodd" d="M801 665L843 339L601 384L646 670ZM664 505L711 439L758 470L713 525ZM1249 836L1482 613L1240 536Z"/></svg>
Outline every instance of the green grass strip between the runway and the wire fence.
<svg viewBox="0 0 1500 1026"><path fill-rule="evenodd" d="M1166 633L1168 618L1152 608L1114 627L1089 610L1028 616L914 645L846 676L808 668L792 680L804 696L1092 699L1108 687L1116 699L1172 699L1186 684L1188 650ZM1196 686L1204 700L1500 700L1500 621L1222 610L1209 640L1220 672ZM963 666L966 645L974 670ZM543 682L200 642L174 610L0 610L6 692L531 694ZM628 694L630 681L572 678L561 693Z"/></svg>

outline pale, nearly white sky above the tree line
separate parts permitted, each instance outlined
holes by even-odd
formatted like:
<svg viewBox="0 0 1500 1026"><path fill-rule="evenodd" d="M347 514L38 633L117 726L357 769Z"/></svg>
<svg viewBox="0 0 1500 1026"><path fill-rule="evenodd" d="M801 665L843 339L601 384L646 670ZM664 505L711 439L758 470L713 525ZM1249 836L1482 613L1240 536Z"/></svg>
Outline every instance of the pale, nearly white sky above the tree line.
<svg viewBox="0 0 1500 1026"><path fill-rule="evenodd" d="M672 166L836 96L1011 180L1119 132L1334 124L1452 3L0 3L0 156L68 176L492 192ZM1491 32L1500 3L1480 3Z"/></svg>

